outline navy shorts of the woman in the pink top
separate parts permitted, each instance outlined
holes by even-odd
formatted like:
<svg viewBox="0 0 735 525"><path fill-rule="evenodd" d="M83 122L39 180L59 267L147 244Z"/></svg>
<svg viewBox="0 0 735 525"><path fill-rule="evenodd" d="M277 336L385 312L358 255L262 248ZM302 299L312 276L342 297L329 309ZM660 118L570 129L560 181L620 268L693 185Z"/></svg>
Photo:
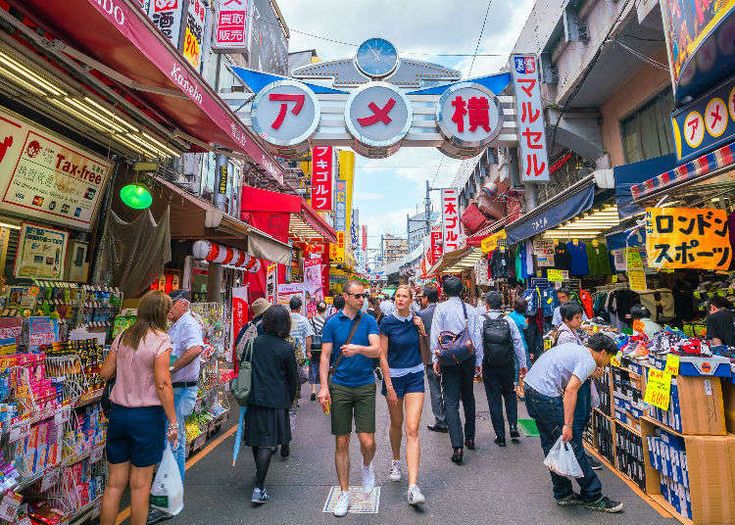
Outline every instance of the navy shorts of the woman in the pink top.
<svg viewBox="0 0 735 525"><path fill-rule="evenodd" d="M163 407L128 408L113 403L107 427L107 460L135 467L157 465L163 458L166 415Z"/></svg>

